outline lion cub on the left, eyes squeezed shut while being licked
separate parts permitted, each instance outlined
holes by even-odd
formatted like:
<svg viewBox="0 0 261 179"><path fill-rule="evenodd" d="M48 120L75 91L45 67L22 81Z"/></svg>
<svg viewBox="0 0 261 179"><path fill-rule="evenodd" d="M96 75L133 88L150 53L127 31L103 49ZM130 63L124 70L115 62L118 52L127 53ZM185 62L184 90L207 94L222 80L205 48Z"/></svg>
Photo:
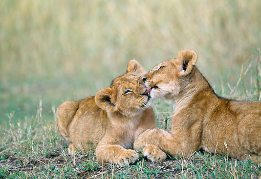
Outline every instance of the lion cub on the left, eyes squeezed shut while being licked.
<svg viewBox="0 0 261 179"><path fill-rule="evenodd" d="M71 154L76 148L87 151L97 146L99 162L122 165L138 159L138 153L132 150L135 138L157 127L150 107L153 102L138 81L143 74L140 64L132 60L126 74L115 78L111 87L77 102L63 102L57 108L57 129ZM157 146L154 150L165 154Z"/></svg>

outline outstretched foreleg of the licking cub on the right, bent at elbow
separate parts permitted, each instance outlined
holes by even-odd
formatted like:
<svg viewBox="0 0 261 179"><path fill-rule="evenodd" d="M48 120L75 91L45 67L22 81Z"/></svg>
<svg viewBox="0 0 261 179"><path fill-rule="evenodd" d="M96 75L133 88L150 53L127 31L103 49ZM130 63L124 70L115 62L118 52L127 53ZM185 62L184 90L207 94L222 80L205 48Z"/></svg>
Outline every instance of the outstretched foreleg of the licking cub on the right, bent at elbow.
<svg viewBox="0 0 261 179"><path fill-rule="evenodd" d="M186 140L184 140L184 137ZM140 150L151 144L158 146L161 150L172 156L188 157L199 149L200 138L197 135L189 136L186 132L176 132L175 135L162 129L148 129L136 138L134 150ZM143 150L143 154L148 156L145 151ZM149 157L151 158L152 156Z"/></svg>

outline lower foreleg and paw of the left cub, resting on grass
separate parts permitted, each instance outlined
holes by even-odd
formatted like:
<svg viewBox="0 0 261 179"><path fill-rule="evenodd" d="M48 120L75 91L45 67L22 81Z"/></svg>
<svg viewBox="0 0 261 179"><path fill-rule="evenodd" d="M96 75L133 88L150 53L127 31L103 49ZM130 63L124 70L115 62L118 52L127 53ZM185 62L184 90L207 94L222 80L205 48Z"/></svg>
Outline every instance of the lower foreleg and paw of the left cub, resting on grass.
<svg viewBox="0 0 261 179"><path fill-rule="evenodd" d="M120 145L113 145L105 140L99 142L95 153L100 163L110 162L118 165L129 165L139 158L139 154L135 150L124 149Z"/></svg>

